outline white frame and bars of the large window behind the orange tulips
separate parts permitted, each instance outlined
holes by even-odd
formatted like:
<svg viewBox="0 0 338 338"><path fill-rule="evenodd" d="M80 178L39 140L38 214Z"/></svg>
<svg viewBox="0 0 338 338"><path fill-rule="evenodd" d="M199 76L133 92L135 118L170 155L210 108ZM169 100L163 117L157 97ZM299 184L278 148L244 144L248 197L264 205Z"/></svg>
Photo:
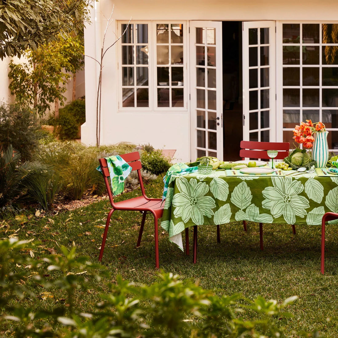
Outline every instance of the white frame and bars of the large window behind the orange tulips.
<svg viewBox="0 0 338 338"><path fill-rule="evenodd" d="M332 20L283 20L283 21L276 21L276 79L279 79L276 81L276 93L278 93L278 95L276 96L276 125L277 126L281 126L280 128L277 127L276 128L276 141L277 142L283 142L283 131L287 130L287 131L291 131L293 130L293 128L283 128L283 24L323 24L323 23L327 23L327 24L337 24L338 21L332 21ZM301 29L300 29L300 34L302 34ZM320 30L320 35L319 35L319 46L322 46L322 32ZM301 39L300 39L301 41ZM318 44L315 44L316 46ZM319 77L321 78L322 72L322 63L321 63L321 58L322 58L322 54L321 54L321 48L319 49ZM324 65L325 66L325 65ZM288 66L290 67L290 65ZM301 80L301 79L300 79ZM300 83L299 88L303 87ZM306 88L311 88L309 86L307 86ZM315 87L317 88L317 86ZM322 89L322 83L320 80L319 83L319 87L320 90ZM337 86L332 86L330 88L338 88ZM322 119L322 110L338 110L338 107L322 107L322 95L321 95L321 91L319 94L319 107L303 107L302 106L302 97L300 95L300 107L294 107L294 109L299 109L300 110L300 119L302 121L303 117L302 117L302 111L303 110L319 110L319 121L321 121ZM301 122L299 121L299 122ZM305 122L305 120L303 119L303 122ZM318 122L318 121L312 121L312 122ZM296 125L296 123L295 123ZM327 128L328 131L338 131L338 127L337 128ZM294 142L296 144L296 142ZM301 145L300 145L301 146ZM293 148L292 142L290 142L290 147ZM336 151L337 149L329 149L329 151Z"/></svg>

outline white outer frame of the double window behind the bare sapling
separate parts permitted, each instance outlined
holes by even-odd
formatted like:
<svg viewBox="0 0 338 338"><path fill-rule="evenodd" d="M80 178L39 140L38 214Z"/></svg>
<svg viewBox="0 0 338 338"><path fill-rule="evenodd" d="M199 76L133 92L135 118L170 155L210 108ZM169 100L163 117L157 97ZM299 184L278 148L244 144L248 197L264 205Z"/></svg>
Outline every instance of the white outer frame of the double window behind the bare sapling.
<svg viewBox="0 0 338 338"><path fill-rule="evenodd" d="M118 36L121 35L121 25L127 24L128 20L117 20L116 31ZM151 21L132 21L131 24L147 24L148 25L148 88L149 88L149 107L123 107L122 99L122 44L118 43L117 48L117 86L118 86L118 111L119 112L183 112L188 111L189 106L189 74L188 74L188 21L185 20L151 20ZM157 24L183 24L183 107L158 107L157 106L157 53L156 53L156 25ZM134 41L134 44L136 42ZM173 44L175 45L175 44ZM162 65L163 66L163 65ZM174 67L174 65L173 65ZM135 78L136 80L136 78ZM172 87L175 89L175 86Z"/></svg>

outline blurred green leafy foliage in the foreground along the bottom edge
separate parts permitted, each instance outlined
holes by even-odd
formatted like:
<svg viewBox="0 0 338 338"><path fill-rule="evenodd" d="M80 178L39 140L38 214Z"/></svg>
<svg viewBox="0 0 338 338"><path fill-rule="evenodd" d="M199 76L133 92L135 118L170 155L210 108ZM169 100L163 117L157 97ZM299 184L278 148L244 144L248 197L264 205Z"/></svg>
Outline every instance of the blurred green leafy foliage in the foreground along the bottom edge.
<svg viewBox="0 0 338 338"><path fill-rule="evenodd" d="M30 258L36 244L11 238L0 242L0 327L16 337L286 337L279 319L296 297L283 304L239 294L217 296L178 275L161 273L147 286L124 281L102 283L112 276L75 247L62 254ZM92 311L83 312L75 294L97 294ZM23 306L16 300L53 299L48 309ZM61 297L60 297L61 298ZM59 298L59 300L61 300ZM245 314L252 316L246 320Z"/></svg>

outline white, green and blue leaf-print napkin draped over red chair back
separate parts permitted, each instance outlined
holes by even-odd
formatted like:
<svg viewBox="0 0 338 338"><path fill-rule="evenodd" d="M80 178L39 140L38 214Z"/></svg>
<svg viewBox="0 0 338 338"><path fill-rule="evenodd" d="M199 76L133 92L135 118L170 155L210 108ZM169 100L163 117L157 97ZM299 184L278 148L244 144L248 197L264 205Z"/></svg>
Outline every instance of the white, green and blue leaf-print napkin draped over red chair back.
<svg viewBox="0 0 338 338"><path fill-rule="evenodd" d="M130 174L131 167L119 155L106 157L105 159L107 160L110 173L112 193L115 196L119 195L124 190L124 180ZM102 172L100 166L98 166L96 170Z"/></svg>

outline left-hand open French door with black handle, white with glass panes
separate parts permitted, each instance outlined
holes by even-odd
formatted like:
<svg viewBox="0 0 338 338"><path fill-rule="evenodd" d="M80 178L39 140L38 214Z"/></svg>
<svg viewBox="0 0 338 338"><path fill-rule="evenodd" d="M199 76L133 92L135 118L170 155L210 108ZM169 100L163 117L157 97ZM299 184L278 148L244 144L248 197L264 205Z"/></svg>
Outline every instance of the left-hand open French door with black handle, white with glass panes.
<svg viewBox="0 0 338 338"><path fill-rule="evenodd" d="M191 160L223 159L222 23L190 21Z"/></svg>

